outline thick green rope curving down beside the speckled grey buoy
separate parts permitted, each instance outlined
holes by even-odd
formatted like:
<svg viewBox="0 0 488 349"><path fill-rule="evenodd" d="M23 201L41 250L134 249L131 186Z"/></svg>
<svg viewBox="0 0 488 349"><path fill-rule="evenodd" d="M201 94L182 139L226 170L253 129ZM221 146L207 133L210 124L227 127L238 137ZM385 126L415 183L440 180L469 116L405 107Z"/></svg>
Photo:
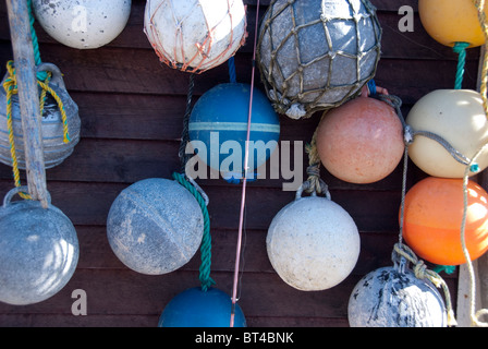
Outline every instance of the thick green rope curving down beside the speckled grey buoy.
<svg viewBox="0 0 488 349"><path fill-rule="evenodd" d="M216 284L210 277L210 264L211 264L211 236L210 236L210 218L208 216L207 204L205 203L202 194L196 190L196 188L190 183L185 177L181 173L173 172L173 179L181 185L186 188L193 196L195 196L198 205L202 208L202 214L204 215L204 237L202 239L200 253L202 253L202 264L199 268L199 279L202 284L202 289L206 292L209 287Z"/></svg>

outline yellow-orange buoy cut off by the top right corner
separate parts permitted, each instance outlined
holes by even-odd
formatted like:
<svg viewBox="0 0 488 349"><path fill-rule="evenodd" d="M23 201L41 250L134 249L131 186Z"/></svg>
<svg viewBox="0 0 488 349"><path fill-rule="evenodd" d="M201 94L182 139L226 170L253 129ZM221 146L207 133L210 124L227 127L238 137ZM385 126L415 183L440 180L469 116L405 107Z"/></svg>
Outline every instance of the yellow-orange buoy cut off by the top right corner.
<svg viewBox="0 0 488 349"><path fill-rule="evenodd" d="M442 45L468 43L476 47L485 43L473 0L419 0L418 13L426 32ZM488 2L485 14L488 16Z"/></svg>

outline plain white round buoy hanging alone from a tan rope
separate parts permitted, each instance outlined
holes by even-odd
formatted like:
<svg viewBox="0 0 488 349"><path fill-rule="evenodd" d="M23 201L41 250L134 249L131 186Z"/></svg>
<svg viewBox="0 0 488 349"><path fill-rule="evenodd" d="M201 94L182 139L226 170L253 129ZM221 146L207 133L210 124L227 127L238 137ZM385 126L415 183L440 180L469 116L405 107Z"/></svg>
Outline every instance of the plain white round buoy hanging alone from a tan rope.
<svg viewBox="0 0 488 349"><path fill-rule="evenodd" d="M269 261L290 286L303 291L342 282L359 256L353 218L327 197L297 195L272 219L266 238Z"/></svg>

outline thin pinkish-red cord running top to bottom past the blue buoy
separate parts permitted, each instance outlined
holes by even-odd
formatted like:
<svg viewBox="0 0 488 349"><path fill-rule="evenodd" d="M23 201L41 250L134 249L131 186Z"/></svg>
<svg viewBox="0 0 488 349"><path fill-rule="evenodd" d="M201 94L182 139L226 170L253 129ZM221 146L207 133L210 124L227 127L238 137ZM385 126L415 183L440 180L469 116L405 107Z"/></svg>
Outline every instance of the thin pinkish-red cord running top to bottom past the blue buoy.
<svg viewBox="0 0 488 349"><path fill-rule="evenodd" d="M244 178L242 181L242 195L241 195L241 213L239 218L239 233L237 233L237 246L235 251L235 267L234 267L234 282L232 287L232 309L231 309L231 322L230 327L234 327L235 317L235 303L237 298L237 284L239 284L239 264L241 260L241 249L242 249L242 227L244 222L244 207L246 202L246 183L247 183L247 169L248 169L248 153L249 153L249 139L251 139L251 119L253 112L253 92L254 92L254 81L255 81L255 70L256 70L256 39L258 31L258 17L259 17L259 0L256 4L256 26L254 29L254 48L253 48L253 69L251 75L251 97L249 97L249 113L247 116L247 137L245 145L245 158L244 158Z"/></svg>

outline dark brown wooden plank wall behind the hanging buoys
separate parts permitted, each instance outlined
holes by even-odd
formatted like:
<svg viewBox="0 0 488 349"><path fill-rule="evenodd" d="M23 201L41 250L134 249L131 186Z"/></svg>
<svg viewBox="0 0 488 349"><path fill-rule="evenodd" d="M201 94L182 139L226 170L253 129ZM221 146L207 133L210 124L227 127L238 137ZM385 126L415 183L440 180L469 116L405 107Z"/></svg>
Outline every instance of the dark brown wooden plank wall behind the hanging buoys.
<svg viewBox="0 0 488 349"><path fill-rule="evenodd" d="M237 80L249 83L256 1L245 2L249 37L235 61ZM402 17L399 8L408 4L417 11L417 1L371 2L378 9L383 28L376 82L403 99L406 117L412 105L428 92L454 86L456 57L425 33L418 13L413 33L399 31ZM261 1L261 16L268 4L269 0ZM143 33L144 5L144 0L133 0L124 32L95 50L60 45L37 26L42 61L56 63L62 70L66 87L80 106L82 140L69 159L47 170L47 180L52 203L76 227L81 256L73 278L51 299L26 306L0 304L0 326L154 327L175 294L199 285L199 253L176 272L146 276L124 267L106 238L108 210L124 188L145 178L170 178L179 169L178 148L188 75L159 63ZM478 53L477 49L468 50L466 88L476 88ZM2 76L9 59L12 51L7 11L0 1ZM227 64L198 75L195 99L228 81ZM302 121L281 117L281 140L308 142L319 118L319 113ZM332 198L356 221L362 251L350 277L320 292L303 292L285 285L267 257L268 226L278 210L293 200L294 193L282 191L282 178L248 184L239 301L248 326L349 326L347 301L355 284L365 274L391 265L392 246L398 241L401 172L399 167L380 182L354 185L321 170ZM424 176L411 164L408 185ZM0 165L0 194L3 196L13 184L11 168ZM218 288L231 294L241 186L223 180L202 180L199 184L210 197L212 277ZM455 302L457 274L443 276ZM87 293L86 316L74 316L71 312L74 302L71 293L75 289Z"/></svg>

